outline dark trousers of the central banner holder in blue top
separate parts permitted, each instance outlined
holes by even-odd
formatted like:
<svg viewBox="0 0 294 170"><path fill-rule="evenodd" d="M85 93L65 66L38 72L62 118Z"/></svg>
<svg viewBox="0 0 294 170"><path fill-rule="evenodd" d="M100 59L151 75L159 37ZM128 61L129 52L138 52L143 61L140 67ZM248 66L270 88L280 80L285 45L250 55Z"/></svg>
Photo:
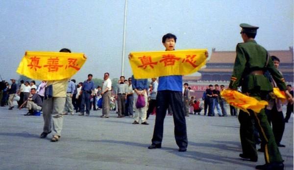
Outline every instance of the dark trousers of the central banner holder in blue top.
<svg viewBox="0 0 294 170"><path fill-rule="evenodd" d="M156 119L152 144L161 145L164 118L169 105L171 105L176 144L180 148L186 148L188 146L188 139L182 92L170 90L158 91L156 100Z"/></svg>

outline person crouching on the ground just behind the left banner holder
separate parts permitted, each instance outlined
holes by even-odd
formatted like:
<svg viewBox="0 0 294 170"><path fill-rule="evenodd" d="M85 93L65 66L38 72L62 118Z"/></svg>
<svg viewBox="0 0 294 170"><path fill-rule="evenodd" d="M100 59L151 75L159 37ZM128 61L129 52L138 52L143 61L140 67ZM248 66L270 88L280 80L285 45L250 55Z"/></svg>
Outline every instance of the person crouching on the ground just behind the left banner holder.
<svg viewBox="0 0 294 170"><path fill-rule="evenodd" d="M34 111L40 111L42 109L42 98L36 93L35 88L31 89L31 95L32 97L29 97L26 100L26 108L28 109L28 112L25 114L25 116L32 116L34 115Z"/></svg>

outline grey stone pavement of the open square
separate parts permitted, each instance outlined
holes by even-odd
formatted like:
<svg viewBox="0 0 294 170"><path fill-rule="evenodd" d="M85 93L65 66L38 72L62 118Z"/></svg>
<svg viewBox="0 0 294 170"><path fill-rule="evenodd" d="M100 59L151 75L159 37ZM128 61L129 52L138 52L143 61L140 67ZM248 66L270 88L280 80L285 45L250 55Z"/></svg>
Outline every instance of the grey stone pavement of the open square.
<svg viewBox="0 0 294 170"><path fill-rule="evenodd" d="M86 116L64 116L61 139L50 142L39 135L41 116L23 116L26 110L0 107L0 170L254 170L264 164L239 158L239 122L236 117L186 118L189 146L178 152L172 116L167 116L161 149L150 145L155 116L149 125L131 124L132 118L99 118L101 111ZM293 170L293 115L286 123L279 148L285 169ZM260 146L257 146L258 148Z"/></svg>

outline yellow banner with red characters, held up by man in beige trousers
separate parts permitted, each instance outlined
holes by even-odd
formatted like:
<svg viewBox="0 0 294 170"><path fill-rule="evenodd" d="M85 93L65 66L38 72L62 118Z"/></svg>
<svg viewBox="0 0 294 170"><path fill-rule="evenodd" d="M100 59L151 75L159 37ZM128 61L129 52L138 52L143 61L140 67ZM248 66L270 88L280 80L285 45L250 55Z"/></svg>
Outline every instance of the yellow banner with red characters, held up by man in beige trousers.
<svg viewBox="0 0 294 170"><path fill-rule="evenodd" d="M16 72L36 80L71 78L86 59L83 53L26 51Z"/></svg>

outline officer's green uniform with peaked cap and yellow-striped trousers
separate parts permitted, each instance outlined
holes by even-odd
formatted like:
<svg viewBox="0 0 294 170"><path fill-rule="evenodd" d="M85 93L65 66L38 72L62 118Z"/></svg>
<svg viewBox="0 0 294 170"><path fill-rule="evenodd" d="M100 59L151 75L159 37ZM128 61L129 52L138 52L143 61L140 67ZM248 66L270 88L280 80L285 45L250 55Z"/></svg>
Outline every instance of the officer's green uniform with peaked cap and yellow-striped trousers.
<svg viewBox="0 0 294 170"><path fill-rule="evenodd" d="M242 32L245 33L256 34L256 30L258 29L258 27L248 24L240 24L240 26L243 28ZM258 100L265 100L273 88L269 79L264 75L264 72L268 70L272 78L276 81L278 88L283 91L286 90L282 75L274 68L271 59L267 59L267 50L258 45L255 40L249 39L245 43L239 43L236 47L236 53L237 56L229 88L237 89L238 86L242 86L242 93ZM238 117L240 121L240 138L243 154L247 157L257 159L253 135L255 123L262 142L266 145L266 163L282 162L283 160L275 143L265 110L262 109L260 113L254 113L252 110L248 111L250 114L240 110Z"/></svg>

